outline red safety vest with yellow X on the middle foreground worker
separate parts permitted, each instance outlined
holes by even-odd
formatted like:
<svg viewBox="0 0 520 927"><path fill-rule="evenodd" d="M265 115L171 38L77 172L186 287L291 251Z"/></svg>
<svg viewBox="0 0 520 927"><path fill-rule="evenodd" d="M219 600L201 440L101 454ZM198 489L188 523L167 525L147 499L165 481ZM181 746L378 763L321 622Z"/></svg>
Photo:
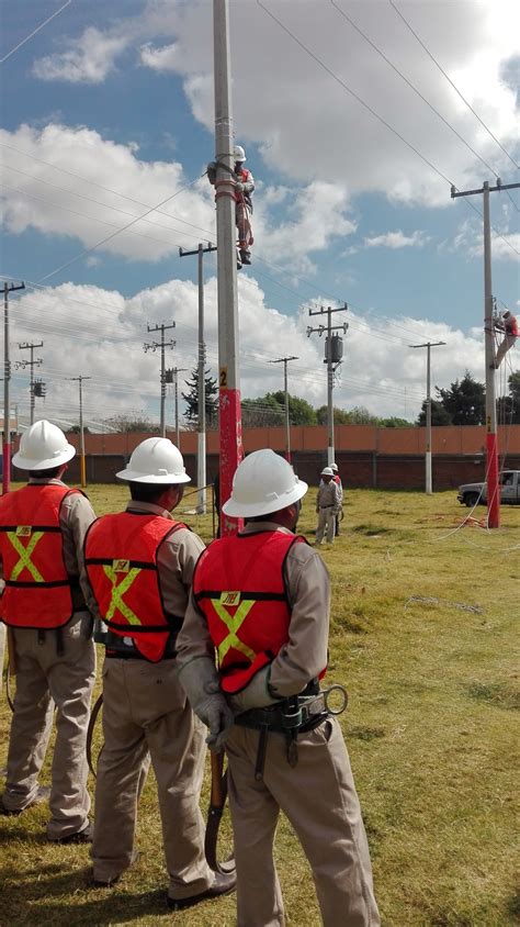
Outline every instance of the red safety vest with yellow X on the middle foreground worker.
<svg viewBox="0 0 520 927"><path fill-rule="evenodd" d="M121 512L93 522L84 539L84 566L102 619L154 663L183 621L165 607L157 557L165 540L185 527L162 515Z"/></svg>

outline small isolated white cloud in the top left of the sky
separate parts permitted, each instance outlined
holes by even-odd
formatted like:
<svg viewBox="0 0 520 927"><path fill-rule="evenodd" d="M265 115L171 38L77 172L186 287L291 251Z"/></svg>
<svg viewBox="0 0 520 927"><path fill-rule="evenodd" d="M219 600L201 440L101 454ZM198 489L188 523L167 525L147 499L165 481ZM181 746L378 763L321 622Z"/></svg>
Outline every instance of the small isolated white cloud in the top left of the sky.
<svg viewBox="0 0 520 927"><path fill-rule="evenodd" d="M109 35L89 26L79 38L68 40L71 47L66 52L56 52L36 60L33 74L41 80L102 83L128 42L128 36Z"/></svg>

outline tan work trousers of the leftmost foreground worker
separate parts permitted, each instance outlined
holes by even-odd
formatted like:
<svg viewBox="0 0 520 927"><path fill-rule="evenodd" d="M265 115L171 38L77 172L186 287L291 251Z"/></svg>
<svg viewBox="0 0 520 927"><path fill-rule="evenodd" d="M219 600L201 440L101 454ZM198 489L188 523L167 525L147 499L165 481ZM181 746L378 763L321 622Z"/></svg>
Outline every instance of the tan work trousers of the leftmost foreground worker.
<svg viewBox="0 0 520 927"><path fill-rule="evenodd" d="M95 680L92 618L78 612L61 628L64 654L57 654L55 630L38 639L33 628L12 628L16 659L16 694L2 803L23 811L34 800L56 705L47 837L59 839L88 824L86 739Z"/></svg>

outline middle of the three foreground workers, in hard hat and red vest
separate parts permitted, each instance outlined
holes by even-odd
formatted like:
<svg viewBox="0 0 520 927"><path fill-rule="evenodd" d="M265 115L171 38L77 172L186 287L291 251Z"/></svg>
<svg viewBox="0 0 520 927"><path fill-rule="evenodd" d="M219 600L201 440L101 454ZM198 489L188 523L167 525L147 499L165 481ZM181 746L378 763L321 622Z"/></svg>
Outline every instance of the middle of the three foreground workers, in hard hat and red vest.
<svg viewBox="0 0 520 927"><path fill-rule="evenodd" d="M136 859L137 801L148 752L157 780L169 874L167 903L185 908L229 892L204 857L199 798L205 729L179 684L182 626L202 540L170 514L190 477L167 438L147 438L116 473L129 483L126 511L91 526L84 563L104 624L104 747L98 763L92 886L113 885ZM98 634L97 634L98 639Z"/></svg>

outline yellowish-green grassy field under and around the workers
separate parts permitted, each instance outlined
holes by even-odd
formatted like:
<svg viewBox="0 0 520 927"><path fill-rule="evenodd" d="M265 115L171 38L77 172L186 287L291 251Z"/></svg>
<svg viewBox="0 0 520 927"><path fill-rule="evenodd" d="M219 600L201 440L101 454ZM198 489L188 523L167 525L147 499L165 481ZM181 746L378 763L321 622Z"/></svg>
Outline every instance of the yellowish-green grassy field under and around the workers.
<svg viewBox="0 0 520 927"><path fill-rule="evenodd" d="M126 499L122 487L92 487L89 494L99 513ZM310 540L313 503L314 492L299 526ZM341 536L320 548L334 589L327 680L349 690L341 724L382 920L392 927L520 922L512 781L520 509L504 509L496 532L456 530L466 514L454 492L351 491ZM208 516L184 517L211 538ZM0 723L1 767L4 699ZM48 782L47 767L42 781ZM47 845L45 819L45 807L0 818L0 924L235 923L233 896L190 913L166 909L152 777L139 807L140 860L112 890L86 889L88 849ZM309 870L284 819L276 859L287 925L319 925Z"/></svg>

